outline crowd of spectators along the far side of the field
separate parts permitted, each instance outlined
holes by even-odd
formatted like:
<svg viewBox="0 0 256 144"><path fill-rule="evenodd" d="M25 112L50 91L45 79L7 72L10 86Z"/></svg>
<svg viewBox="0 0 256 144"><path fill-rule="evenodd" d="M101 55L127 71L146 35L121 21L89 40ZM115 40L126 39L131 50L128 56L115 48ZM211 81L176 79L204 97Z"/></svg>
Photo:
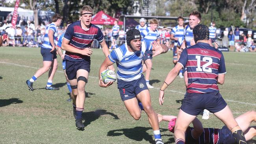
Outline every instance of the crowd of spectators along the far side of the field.
<svg viewBox="0 0 256 144"><path fill-rule="evenodd" d="M143 18L145 22L145 26L149 26L146 23L146 20ZM141 22L141 21L140 21ZM11 15L6 17L4 23L0 27L0 33L3 39L3 46L26 46L26 47L40 47L44 41L45 28L50 24L50 22L42 22L36 28L33 22L27 20L22 17L20 18L18 15L17 24L15 27L11 25ZM114 30L110 27L101 28L102 33L104 35L104 39L110 48L117 48L121 46L126 41L126 31L131 28L128 27L126 31L118 27L113 26L113 28L117 28ZM139 26L139 25L138 25ZM136 26L136 28L138 27ZM172 28L166 28L164 26L158 26L158 34L160 35L160 43L166 44L169 47L169 50L174 48L174 40L171 39L171 31ZM223 31L223 36L217 32L217 28L215 27L215 22L212 22L210 27L210 38L217 41L220 46L226 47L229 51L236 52L256 52L255 46L256 43L253 39L253 35L247 34L245 35L243 31L239 31L239 28L235 28L232 30L231 28L225 28ZM117 32L116 32L117 31ZM65 32L63 27L58 28L58 37ZM115 34L114 34L115 33ZM114 36L115 35L115 36ZM93 48L100 48L98 41L95 40L92 44Z"/></svg>

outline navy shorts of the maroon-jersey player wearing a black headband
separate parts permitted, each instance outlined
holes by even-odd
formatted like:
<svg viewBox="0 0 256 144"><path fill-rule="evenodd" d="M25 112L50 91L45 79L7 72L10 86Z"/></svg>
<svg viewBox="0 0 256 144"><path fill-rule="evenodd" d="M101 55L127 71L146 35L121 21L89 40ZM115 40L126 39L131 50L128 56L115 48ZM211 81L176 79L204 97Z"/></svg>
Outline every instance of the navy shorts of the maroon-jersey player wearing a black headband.
<svg viewBox="0 0 256 144"><path fill-rule="evenodd" d="M91 59L83 59L82 61L66 60L66 74L69 80L76 79L76 72L80 69L90 72Z"/></svg>

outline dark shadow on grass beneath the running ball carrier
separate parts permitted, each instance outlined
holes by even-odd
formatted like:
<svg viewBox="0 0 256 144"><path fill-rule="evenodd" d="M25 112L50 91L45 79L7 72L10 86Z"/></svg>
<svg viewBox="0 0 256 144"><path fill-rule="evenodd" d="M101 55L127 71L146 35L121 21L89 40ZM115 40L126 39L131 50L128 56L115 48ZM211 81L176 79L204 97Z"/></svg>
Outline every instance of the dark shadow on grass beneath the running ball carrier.
<svg viewBox="0 0 256 144"><path fill-rule="evenodd" d="M130 129L115 129L108 132L107 136L115 137L115 136L121 136L125 135L126 137L136 140L136 141L142 141L143 139L148 141L150 144L154 144L155 141L152 138L152 135L149 135L147 133L148 130L152 130L152 127L134 127ZM160 129L160 131L168 131L168 129ZM164 136L164 135L162 135ZM165 136L171 136L171 135L165 135ZM172 143L174 140L172 141Z"/></svg>

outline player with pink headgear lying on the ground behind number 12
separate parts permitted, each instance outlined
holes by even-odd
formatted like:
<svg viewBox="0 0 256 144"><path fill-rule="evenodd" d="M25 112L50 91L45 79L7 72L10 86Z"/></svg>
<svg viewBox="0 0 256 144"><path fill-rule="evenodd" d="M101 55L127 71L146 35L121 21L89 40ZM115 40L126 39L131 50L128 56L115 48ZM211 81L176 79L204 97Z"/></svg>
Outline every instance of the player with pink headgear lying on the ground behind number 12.
<svg viewBox="0 0 256 144"><path fill-rule="evenodd" d="M161 122L162 120L169 122L168 129L174 133L176 116L158 114L158 121ZM235 120L245 134L246 141L256 136L256 126L250 126L252 122L256 122L255 111L248 111ZM188 127L186 130L186 144L236 144L234 136L226 126L221 129L203 128L197 118L193 120L192 124L193 127Z"/></svg>

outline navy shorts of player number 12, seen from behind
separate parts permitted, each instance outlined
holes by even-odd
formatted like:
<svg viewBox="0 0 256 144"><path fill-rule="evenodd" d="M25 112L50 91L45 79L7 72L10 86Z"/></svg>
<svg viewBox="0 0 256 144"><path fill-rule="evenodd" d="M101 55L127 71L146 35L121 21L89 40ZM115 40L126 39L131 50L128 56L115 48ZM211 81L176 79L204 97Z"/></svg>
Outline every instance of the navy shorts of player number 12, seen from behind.
<svg viewBox="0 0 256 144"><path fill-rule="evenodd" d="M180 108L187 114L197 116L204 109L211 113L217 113L224 109L226 105L227 103L219 91L206 94L186 92Z"/></svg>

